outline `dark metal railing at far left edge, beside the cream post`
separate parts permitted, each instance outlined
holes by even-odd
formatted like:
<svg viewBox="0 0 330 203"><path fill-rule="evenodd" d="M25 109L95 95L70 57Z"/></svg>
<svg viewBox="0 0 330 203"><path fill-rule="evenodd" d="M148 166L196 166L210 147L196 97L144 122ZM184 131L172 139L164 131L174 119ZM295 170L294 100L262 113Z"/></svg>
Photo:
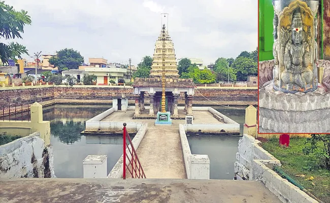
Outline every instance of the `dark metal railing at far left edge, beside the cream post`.
<svg viewBox="0 0 330 203"><path fill-rule="evenodd" d="M29 105L0 105L0 120L29 121Z"/></svg>

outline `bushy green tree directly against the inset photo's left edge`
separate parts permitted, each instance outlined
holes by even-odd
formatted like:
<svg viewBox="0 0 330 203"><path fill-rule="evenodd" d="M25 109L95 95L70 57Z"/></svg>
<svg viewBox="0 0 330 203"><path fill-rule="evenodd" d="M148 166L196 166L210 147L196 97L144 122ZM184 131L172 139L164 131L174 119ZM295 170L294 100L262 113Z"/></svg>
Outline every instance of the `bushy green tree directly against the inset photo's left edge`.
<svg viewBox="0 0 330 203"><path fill-rule="evenodd" d="M234 71L237 73L238 81L246 81L248 75L257 75L257 62L251 58L238 57L232 64Z"/></svg>

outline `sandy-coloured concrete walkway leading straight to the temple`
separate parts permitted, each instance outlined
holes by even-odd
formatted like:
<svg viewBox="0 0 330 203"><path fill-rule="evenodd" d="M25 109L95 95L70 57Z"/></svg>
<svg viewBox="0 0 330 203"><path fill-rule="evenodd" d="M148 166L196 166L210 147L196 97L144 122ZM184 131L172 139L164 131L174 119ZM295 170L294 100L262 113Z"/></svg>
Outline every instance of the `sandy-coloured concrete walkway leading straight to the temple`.
<svg viewBox="0 0 330 203"><path fill-rule="evenodd" d="M174 121L172 126L155 126L154 122L148 123L148 131L138 148L146 177L187 178L179 134L180 121Z"/></svg>

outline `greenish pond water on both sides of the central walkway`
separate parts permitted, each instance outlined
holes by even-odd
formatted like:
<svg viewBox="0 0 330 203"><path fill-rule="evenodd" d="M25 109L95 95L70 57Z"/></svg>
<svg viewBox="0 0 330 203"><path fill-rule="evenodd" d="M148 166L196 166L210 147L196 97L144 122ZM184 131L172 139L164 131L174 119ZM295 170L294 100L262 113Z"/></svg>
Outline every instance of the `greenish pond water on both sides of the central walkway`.
<svg viewBox="0 0 330 203"><path fill-rule="evenodd" d="M86 137L80 134L85 129L85 121L109 108L111 107L68 105L44 108L44 120L50 121L54 171L58 178L82 178L82 161L90 154L108 155L107 170L110 173L122 154L122 138ZM219 106L213 108L240 123L243 133L244 109ZM209 155L211 179L233 179L238 140L239 137L188 137L193 154Z"/></svg>

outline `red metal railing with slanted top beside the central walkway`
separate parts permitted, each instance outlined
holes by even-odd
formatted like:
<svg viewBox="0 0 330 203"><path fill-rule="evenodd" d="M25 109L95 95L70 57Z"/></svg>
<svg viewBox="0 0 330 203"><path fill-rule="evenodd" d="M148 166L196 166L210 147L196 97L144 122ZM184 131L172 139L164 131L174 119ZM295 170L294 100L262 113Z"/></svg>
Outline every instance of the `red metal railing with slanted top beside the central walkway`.
<svg viewBox="0 0 330 203"><path fill-rule="evenodd" d="M134 146L132 144L132 141L130 140L129 134L126 130L126 123L123 124L123 179L126 179L126 170L128 170L129 174L131 175L131 178L146 178L146 175L144 174L143 168L141 166L141 163L138 158L138 154L136 150L134 149ZM128 140L127 144L126 140ZM129 151L130 156L127 156L126 154L126 147ZM126 163L126 158L128 159L128 164Z"/></svg>

